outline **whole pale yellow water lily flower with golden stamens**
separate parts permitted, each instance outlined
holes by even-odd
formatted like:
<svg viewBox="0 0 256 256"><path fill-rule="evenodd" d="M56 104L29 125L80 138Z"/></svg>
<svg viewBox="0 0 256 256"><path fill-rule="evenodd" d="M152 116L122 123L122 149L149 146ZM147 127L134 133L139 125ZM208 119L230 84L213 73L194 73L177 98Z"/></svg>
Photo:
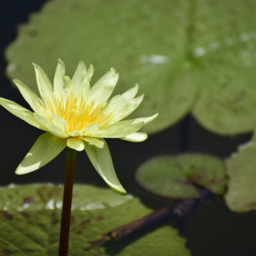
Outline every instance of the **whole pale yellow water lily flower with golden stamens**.
<svg viewBox="0 0 256 256"><path fill-rule="evenodd" d="M0 105L6 110L46 131L38 137L15 173L22 175L37 170L53 160L66 146L77 151L85 149L92 165L108 186L126 194L115 174L110 151L103 138L133 142L147 138L146 133L137 131L155 119L157 114L122 121L143 99L143 94L135 98L138 85L109 99L119 77L113 68L90 87L94 71L92 65L87 70L85 64L80 62L71 79L65 76L64 62L58 60L53 85L44 71L33 65L41 98L21 81L13 81L34 112L0 98Z"/></svg>

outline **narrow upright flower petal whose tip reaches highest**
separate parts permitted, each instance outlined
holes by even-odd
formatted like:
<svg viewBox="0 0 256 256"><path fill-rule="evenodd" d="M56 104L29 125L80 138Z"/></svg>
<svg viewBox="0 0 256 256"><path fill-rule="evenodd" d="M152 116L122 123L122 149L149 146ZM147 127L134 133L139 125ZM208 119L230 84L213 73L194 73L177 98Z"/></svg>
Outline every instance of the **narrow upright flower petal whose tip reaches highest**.
<svg viewBox="0 0 256 256"><path fill-rule="evenodd" d="M62 60L58 59L55 77L53 79L53 91L57 99L60 100L64 89L65 78L65 64Z"/></svg>

